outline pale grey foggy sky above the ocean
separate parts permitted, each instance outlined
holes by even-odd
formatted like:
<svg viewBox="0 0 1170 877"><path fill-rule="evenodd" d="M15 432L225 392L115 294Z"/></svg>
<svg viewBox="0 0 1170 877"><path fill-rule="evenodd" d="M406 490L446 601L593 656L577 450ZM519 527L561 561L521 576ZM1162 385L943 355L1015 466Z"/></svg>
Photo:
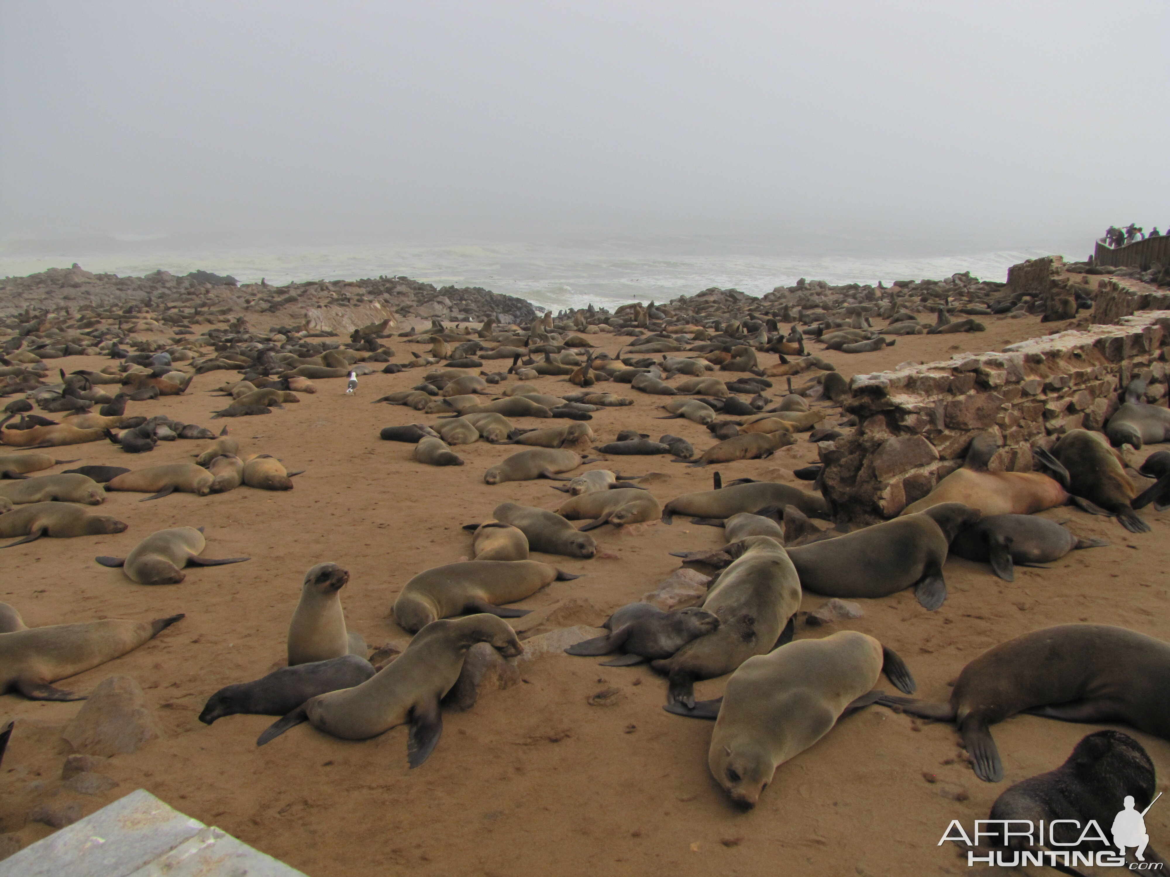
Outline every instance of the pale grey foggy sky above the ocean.
<svg viewBox="0 0 1170 877"><path fill-rule="evenodd" d="M1164 227L1168 35L1163 0L6 1L0 240Z"/></svg>

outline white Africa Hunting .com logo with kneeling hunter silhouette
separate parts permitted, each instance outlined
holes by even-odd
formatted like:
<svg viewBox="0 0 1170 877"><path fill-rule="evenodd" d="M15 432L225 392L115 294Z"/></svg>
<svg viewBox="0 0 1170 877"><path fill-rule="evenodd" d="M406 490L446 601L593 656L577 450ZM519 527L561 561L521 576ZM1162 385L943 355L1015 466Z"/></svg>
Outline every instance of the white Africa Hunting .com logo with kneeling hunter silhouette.
<svg viewBox="0 0 1170 877"><path fill-rule="evenodd" d="M1157 794L1150 807L1162 797ZM976 820L975 830L968 834L958 820L951 820L943 836L947 841L968 848L968 868L996 865L999 868L1023 868L1026 865L1061 866L1061 870L1082 865L1086 868L1128 868L1131 871L1161 871L1162 862L1147 862L1145 848L1150 836L1145 831L1144 810L1134 808L1134 797L1127 795L1123 807L1109 827L1112 840L1096 820L1081 823L1079 820ZM1061 849L1065 848L1065 849ZM1136 862L1128 862L1126 850L1133 850ZM1066 871L1067 873L1068 871Z"/></svg>

